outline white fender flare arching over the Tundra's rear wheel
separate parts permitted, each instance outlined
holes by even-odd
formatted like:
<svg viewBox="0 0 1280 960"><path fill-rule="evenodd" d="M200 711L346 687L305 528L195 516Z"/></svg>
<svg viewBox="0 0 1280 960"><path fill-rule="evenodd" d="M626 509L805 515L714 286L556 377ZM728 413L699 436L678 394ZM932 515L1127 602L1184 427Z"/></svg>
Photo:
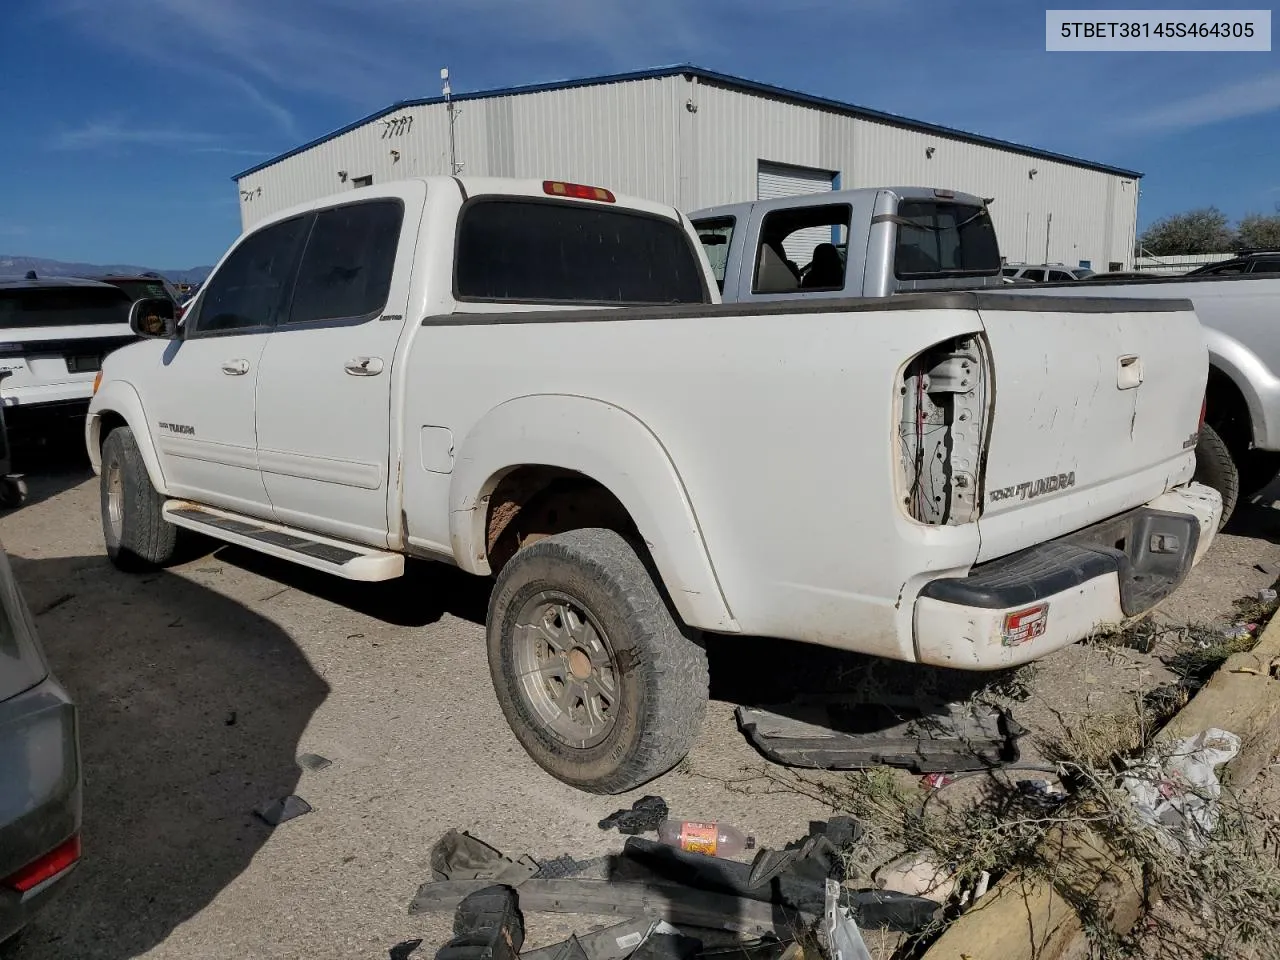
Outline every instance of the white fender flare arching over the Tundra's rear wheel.
<svg viewBox="0 0 1280 960"><path fill-rule="evenodd" d="M626 512L686 623L737 632L692 503L653 431L630 412L585 397L538 394L494 407L460 444L449 485L449 535L463 570L488 575L494 493L517 471L577 476ZM524 502L541 490L527 484ZM500 532L500 531L499 531Z"/></svg>

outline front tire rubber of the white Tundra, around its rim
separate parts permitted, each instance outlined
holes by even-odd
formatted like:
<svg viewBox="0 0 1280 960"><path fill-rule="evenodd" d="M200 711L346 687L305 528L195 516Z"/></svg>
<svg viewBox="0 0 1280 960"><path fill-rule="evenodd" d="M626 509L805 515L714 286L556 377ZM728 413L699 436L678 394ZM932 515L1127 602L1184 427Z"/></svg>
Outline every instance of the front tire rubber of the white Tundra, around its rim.
<svg viewBox="0 0 1280 960"><path fill-rule="evenodd" d="M119 530L110 520L115 471L119 471L122 494ZM178 527L164 518L161 508L165 498L151 485L137 440L127 426L118 426L102 444L99 500L102 539L111 563L120 570L140 572L173 561L178 552Z"/></svg>

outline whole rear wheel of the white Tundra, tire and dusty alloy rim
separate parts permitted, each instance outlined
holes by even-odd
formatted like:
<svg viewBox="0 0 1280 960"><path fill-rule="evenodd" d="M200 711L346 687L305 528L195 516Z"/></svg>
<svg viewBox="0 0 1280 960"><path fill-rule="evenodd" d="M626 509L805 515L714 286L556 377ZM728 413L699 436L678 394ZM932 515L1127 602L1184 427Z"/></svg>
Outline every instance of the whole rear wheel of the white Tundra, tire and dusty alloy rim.
<svg viewBox="0 0 1280 960"><path fill-rule="evenodd" d="M707 654L612 530L558 534L512 557L489 600L488 646L516 739L573 787L637 787L698 736Z"/></svg>

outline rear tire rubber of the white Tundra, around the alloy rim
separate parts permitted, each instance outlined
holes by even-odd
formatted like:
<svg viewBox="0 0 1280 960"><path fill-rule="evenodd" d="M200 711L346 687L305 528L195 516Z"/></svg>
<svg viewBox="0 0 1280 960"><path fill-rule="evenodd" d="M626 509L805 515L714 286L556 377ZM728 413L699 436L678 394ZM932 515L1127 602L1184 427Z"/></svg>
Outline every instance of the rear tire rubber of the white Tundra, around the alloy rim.
<svg viewBox="0 0 1280 960"><path fill-rule="evenodd" d="M572 598L596 620L618 666L613 727L585 749L538 718L516 673L517 614L548 590ZM698 737L707 654L676 623L636 552L612 530L572 530L516 553L489 599L486 631L502 712L534 762L557 780L591 794L621 794L669 771Z"/></svg>

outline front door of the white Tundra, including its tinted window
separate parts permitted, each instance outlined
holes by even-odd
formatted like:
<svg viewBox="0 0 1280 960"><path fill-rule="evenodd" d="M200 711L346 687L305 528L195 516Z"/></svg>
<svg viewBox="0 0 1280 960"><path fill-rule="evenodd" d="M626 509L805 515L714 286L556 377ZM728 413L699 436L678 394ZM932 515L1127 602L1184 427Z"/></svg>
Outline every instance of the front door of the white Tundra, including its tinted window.
<svg viewBox="0 0 1280 960"><path fill-rule="evenodd" d="M172 495L270 516L255 393L310 224L310 215L297 216L241 241L186 314L182 338L156 351L142 394Z"/></svg>

